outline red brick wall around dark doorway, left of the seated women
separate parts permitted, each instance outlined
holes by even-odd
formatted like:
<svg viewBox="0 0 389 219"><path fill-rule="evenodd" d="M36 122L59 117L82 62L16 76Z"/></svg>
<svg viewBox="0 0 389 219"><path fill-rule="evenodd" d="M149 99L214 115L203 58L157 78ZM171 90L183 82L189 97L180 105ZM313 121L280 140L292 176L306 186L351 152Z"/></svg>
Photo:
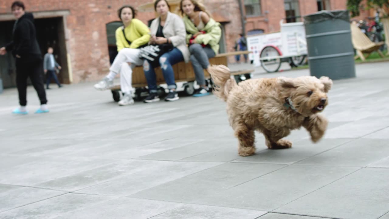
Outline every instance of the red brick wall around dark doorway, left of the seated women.
<svg viewBox="0 0 389 219"><path fill-rule="evenodd" d="M2 0L0 13L10 13L14 0ZM108 73L109 56L105 25L117 21L117 9L127 0L24 0L28 12L69 10L66 18L68 54L70 54L73 83L96 81ZM137 7L144 1L133 0ZM110 8L109 8L110 6ZM152 18L153 13L139 13L137 18L145 23Z"/></svg>

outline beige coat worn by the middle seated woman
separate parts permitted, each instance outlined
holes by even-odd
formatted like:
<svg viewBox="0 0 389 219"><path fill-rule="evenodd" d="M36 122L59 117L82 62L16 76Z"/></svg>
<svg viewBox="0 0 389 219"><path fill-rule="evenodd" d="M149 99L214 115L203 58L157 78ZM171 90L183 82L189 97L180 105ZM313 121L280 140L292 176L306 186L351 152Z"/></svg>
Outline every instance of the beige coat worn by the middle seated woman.
<svg viewBox="0 0 389 219"><path fill-rule="evenodd" d="M159 17L154 19L150 25L151 35L156 35L159 26ZM190 53L186 46L186 30L184 21L177 15L168 12L165 25L162 29L165 38L170 38L174 47L177 47L184 56L185 62L189 62Z"/></svg>

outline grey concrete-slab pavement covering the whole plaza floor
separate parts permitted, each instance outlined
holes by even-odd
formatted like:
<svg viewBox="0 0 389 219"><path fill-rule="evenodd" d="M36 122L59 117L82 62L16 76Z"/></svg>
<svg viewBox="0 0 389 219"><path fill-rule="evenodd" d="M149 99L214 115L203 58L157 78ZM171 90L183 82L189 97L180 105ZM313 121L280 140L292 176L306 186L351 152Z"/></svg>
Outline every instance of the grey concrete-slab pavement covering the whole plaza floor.
<svg viewBox="0 0 389 219"><path fill-rule="evenodd" d="M333 81L323 112L329 126L318 144L300 129L287 137L293 148L273 151L257 134L252 157L238 155L226 104L214 95L118 107L110 91L97 92L88 82L48 90L50 113L35 115L39 100L29 86L30 113L19 116L11 114L16 88L6 89L0 94L0 196L13 197L1 205L13 209L0 218L254 219L270 212L257 218L311 219L329 212L340 215L330 218L385 219L388 67L356 65L356 78ZM307 69L259 70L254 78L309 75ZM70 194L46 194L55 190ZM118 198L132 195L160 200ZM336 203L357 210L346 205L340 212ZM304 212L277 212L292 204Z"/></svg>

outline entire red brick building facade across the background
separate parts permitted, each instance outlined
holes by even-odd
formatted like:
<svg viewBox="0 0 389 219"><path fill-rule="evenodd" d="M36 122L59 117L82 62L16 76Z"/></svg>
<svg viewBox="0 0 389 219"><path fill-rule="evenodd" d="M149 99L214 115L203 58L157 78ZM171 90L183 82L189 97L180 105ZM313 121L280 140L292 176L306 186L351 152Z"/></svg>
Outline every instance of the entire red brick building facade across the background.
<svg viewBox="0 0 389 219"><path fill-rule="evenodd" d="M14 0L0 1L0 13L10 13ZM331 0L331 9L346 9L347 0ZM89 3L88 3L89 2ZM128 0L24 0L26 11L69 10L66 17L68 54L72 64L73 83L96 81L109 71L109 56L105 25L119 20L116 10ZM133 0L131 5L139 5L151 0ZM242 0L242 2L244 2ZM237 0L207 0L207 9L228 18L225 26L226 49L233 51L235 40L242 32L240 10ZM110 6L110 8L109 8ZM243 5L242 5L243 6ZM263 29L265 32L279 31L279 21L285 18L284 0L261 0L262 15L246 18L246 33L252 29ZM268 12L268 13L265 13ZM300 0L300 14L306 15L317 11L316 0ZM356 19L369 16L363 12ZM140 12L138 19L147 23L154 18L154 12ZM229 57L229 62L234 62Z"/></svg>

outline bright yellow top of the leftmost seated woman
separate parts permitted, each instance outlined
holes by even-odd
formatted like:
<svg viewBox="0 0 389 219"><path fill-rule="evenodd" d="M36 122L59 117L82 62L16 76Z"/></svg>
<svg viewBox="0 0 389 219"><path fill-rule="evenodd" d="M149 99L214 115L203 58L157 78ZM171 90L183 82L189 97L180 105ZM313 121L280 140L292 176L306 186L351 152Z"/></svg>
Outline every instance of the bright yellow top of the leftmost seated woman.
<svg viewBox="0 0 389 219"><path fill-rule="evenodd" d="M138 48L144 44L147 44L150 40L150 30L149 28L140 20L133 18L130 25L124 28L124 33L126 34L127 39L131 42L131 45L128 44L123 35L123 26L116 29L116 46L117 51L120 51L123 48Z"/></svg>

